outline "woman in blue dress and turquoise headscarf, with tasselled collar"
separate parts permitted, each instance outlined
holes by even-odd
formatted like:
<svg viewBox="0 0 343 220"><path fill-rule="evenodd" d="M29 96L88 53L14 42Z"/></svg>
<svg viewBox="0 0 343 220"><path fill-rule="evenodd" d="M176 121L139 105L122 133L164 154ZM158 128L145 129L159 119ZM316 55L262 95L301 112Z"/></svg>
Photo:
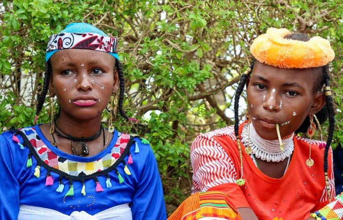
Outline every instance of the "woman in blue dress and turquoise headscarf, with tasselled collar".
<svg viewBox="0 0 343 220"><path fill-rule="evenodd" d="M165 220L149 143L112 125L117 106L122 117L134 120L122 109L117 39L87 23L69 24L51 36L36 115L47 93L49 124L0 135L0 219Z"/></svg>

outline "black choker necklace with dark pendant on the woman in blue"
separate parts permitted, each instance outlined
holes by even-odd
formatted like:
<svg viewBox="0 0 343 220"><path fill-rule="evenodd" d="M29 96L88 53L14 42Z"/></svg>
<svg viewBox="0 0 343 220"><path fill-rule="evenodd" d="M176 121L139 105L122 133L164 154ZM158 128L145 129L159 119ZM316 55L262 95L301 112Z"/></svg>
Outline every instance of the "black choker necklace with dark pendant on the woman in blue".
<svg viewBox="0 0 343 220"><path fill-rule="evenodd" d="M61 134L60 132L58 132L56 129L59 130L64 135ZM73 151L73 154L77 155L77 156L88 155L89 154L89 150L88 150L88 145L86 144L86 142L97 139L101 135L101 132L103 132L103 134L105 133L103 131L103 127L102 127L102 124L101 124L100 125L100 130L96 134L94 134L94 135L92 135L90 137L85 137L85 138L84 137L81 137L81 138L74 137L74 136L72 136L70 134L67 134L67 133L63 132L57 126L56 122L55 122L55 131L54 132L56 132L57 136L59 136L59 137L64 137L64 138L67 138L67 139L71 140L71 149ZM54 137L54 133L52 135ZM103 138L103 140L105 140L105 137ZM55 141L55 137L54 137L54 141Z"/></svg>

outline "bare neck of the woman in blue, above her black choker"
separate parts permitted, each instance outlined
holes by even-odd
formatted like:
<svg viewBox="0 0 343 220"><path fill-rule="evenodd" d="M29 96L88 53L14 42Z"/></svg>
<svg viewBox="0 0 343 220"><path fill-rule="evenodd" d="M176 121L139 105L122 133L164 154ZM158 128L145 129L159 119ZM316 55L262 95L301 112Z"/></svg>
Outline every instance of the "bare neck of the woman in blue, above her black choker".
<svg viewBox="0 0 343 220"><path fill-rule="evenodd" d="M99 132L101 127L101 114L91 119L79 119L61 111L60 117L55 122L65 133L74 137L89 137Z"/></svg>

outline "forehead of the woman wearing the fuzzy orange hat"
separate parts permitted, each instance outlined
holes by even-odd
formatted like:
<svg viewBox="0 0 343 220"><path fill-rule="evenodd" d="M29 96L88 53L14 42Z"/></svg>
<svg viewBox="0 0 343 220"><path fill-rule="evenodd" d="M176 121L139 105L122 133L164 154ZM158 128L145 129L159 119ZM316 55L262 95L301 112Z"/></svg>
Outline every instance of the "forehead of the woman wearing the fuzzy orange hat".
<svg viewBox="0 0 343 220"><path fill-rule="evenodd" d="M312 88L317 80L317 73L313 68L285 69L255 62L251 79L263 78L271 84L298 83L304 88Z"/></svg>

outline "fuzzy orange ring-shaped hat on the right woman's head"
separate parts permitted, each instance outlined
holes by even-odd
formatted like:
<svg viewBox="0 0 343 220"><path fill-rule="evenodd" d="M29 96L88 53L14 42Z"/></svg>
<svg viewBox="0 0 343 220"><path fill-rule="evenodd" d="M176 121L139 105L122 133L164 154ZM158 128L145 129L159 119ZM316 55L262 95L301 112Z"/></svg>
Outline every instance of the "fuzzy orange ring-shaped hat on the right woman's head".
<svg viewBox="0 0 343 220"><path fill-rule="evenodd" d="M317 36L307 42L284 39L289 34L285 28L268 28L254 40L250 51L261 63L279 68L325 66L335 58L327 40Z"/></svg>

